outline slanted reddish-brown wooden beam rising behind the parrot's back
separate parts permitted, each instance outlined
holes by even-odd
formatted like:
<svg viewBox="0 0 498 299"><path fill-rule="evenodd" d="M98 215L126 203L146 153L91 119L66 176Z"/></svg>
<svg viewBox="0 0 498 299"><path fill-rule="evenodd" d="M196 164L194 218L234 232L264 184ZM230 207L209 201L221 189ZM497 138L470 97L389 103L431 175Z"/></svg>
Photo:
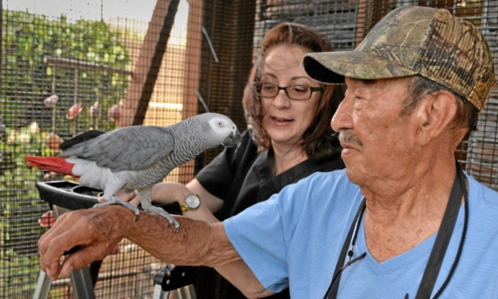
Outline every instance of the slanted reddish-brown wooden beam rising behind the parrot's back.
<svg viewBox="0 0 498 299"><path fill-rule="evenodd" d="M179 0L157 0L140 55L137 59L131 85L121 107L117 128L141 125L154 90L162 57L166 51L171 27Z"/></svg>

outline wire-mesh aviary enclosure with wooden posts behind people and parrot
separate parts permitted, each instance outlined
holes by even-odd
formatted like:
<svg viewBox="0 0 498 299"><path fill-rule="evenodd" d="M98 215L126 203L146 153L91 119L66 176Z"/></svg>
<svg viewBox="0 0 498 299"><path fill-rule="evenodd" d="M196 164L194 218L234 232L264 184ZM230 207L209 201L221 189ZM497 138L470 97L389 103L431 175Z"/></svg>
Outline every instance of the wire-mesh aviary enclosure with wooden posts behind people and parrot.
<svg viewBox="0 0 498 299"><path fill-rule="evenodd" d="M35 184L65 179L28 167L25 154L56 155L61 141L89 129L164 126L207 110L244 129L244 84L267 29L305 23L336 50L353 49L401 5L447 8L473 22L498 67L498 0L2 0L0 298L32 297L36 242L52 221ZM457 155L498 190L498 90L478 127ZM218 151L166 179L189 181ZM151 298L164 265L124 240L102 262L96 297ZM198 298L216 298L216 284L199 282ZM49 297L72 298L69 280L54 282Z"/></svg>

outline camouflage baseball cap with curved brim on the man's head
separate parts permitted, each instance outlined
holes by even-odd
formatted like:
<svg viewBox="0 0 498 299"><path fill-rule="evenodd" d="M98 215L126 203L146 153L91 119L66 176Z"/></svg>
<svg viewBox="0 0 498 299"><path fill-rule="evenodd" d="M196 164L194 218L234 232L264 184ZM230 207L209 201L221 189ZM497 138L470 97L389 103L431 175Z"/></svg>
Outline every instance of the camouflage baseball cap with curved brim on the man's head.
<svg viewBox="0 0 498 299"><path fill-rule="evenodd" d="M484 36L448 10L403 6L384 16L353 51L306 54L303 67L323 83L344 76L385 79L419 74L471 102L479 111L496 85Z"/></svg>

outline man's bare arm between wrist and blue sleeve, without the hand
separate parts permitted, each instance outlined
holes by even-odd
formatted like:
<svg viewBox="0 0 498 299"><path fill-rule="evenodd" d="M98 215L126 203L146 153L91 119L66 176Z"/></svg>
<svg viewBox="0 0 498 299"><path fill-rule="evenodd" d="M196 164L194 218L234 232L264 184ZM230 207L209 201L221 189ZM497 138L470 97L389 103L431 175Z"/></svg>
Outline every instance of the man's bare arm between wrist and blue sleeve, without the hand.
<svg viewBox="0 0 498 299"><path fill-rule="evenodd" d="M125 237L162 261L175 265L216 267L248 298L272 294L263 288L235 251L222 222L209 224L187 217L175 218L180 223L178 233L167 226L168 222L163 217L142 213Z"/></svg>

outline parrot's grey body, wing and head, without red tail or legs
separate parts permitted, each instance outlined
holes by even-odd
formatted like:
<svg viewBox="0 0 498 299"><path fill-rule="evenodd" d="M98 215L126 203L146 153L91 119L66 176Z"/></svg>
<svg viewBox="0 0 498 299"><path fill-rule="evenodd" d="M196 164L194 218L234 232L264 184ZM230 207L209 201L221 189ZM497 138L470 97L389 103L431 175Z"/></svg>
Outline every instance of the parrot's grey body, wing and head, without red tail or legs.
<svg viewBox="0 0 498 299"><path fill-rule="evenodd" d="M170 165L175 167L220 144L234 146L233 142L225 143L227 139L238 142L237 135L240 138L228 117L206 113L165 128L131 126L107 133L88 131L63 143L61 156L92 160L112 172L145 169L164 158L171 158Z"/></svg>

